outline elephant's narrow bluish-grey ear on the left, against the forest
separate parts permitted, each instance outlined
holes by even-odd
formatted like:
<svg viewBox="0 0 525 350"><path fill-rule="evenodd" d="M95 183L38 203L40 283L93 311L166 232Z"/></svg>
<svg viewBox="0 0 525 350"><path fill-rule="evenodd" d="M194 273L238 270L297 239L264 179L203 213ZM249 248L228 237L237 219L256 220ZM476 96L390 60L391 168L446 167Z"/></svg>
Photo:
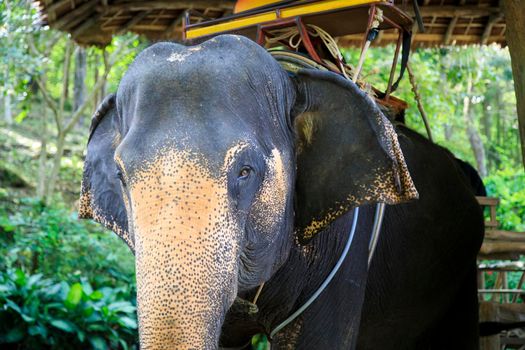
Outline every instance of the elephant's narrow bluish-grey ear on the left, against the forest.
<svg viewBox="0 0 525 350"><path fill-rule="evenodd" d="M101 223L134 250L114 160L119 140L115 95L111 94L99 105L91 121L78 216Z"/></svg>

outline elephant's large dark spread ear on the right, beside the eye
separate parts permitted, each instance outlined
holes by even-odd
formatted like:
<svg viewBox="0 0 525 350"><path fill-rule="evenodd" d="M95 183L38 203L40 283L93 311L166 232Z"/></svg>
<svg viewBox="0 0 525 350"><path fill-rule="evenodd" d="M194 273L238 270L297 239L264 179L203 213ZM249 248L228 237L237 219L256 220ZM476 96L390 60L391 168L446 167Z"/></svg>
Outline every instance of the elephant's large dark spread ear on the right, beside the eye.
<svg viewBox="0 0 525 350"><path fill-rule="evenodd" d="M293 79L300 243L353 207L417 198L397 134L369 96L330 72L300 70Z"/></svg>

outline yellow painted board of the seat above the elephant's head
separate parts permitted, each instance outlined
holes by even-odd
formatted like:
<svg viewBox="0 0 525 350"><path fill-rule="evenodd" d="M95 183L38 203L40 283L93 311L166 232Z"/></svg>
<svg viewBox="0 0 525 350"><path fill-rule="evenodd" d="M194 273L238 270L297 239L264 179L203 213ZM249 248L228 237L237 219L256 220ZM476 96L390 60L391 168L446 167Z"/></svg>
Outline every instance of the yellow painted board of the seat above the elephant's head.
<svg viewBox="0 0 525 350"><path fill-rule="evenodd" d="M388 0L330 0L320 1L318 3L311 3L307 5L294 6L290 8L283 8L280 10L279 18L291 18L302 15L309 15L314 13L333 11L343 9L351 6L366 5L378 2L388 2ZM201 36L207 36L222 32L227 32L235 29L246 28L252 25L257 25L265 22L271 22L278 19L276 11L268 11L261 14L238 18L224 23L218 23L208 27L198 27L188 29L186 31L187 39L194 39Z"/></svg>

